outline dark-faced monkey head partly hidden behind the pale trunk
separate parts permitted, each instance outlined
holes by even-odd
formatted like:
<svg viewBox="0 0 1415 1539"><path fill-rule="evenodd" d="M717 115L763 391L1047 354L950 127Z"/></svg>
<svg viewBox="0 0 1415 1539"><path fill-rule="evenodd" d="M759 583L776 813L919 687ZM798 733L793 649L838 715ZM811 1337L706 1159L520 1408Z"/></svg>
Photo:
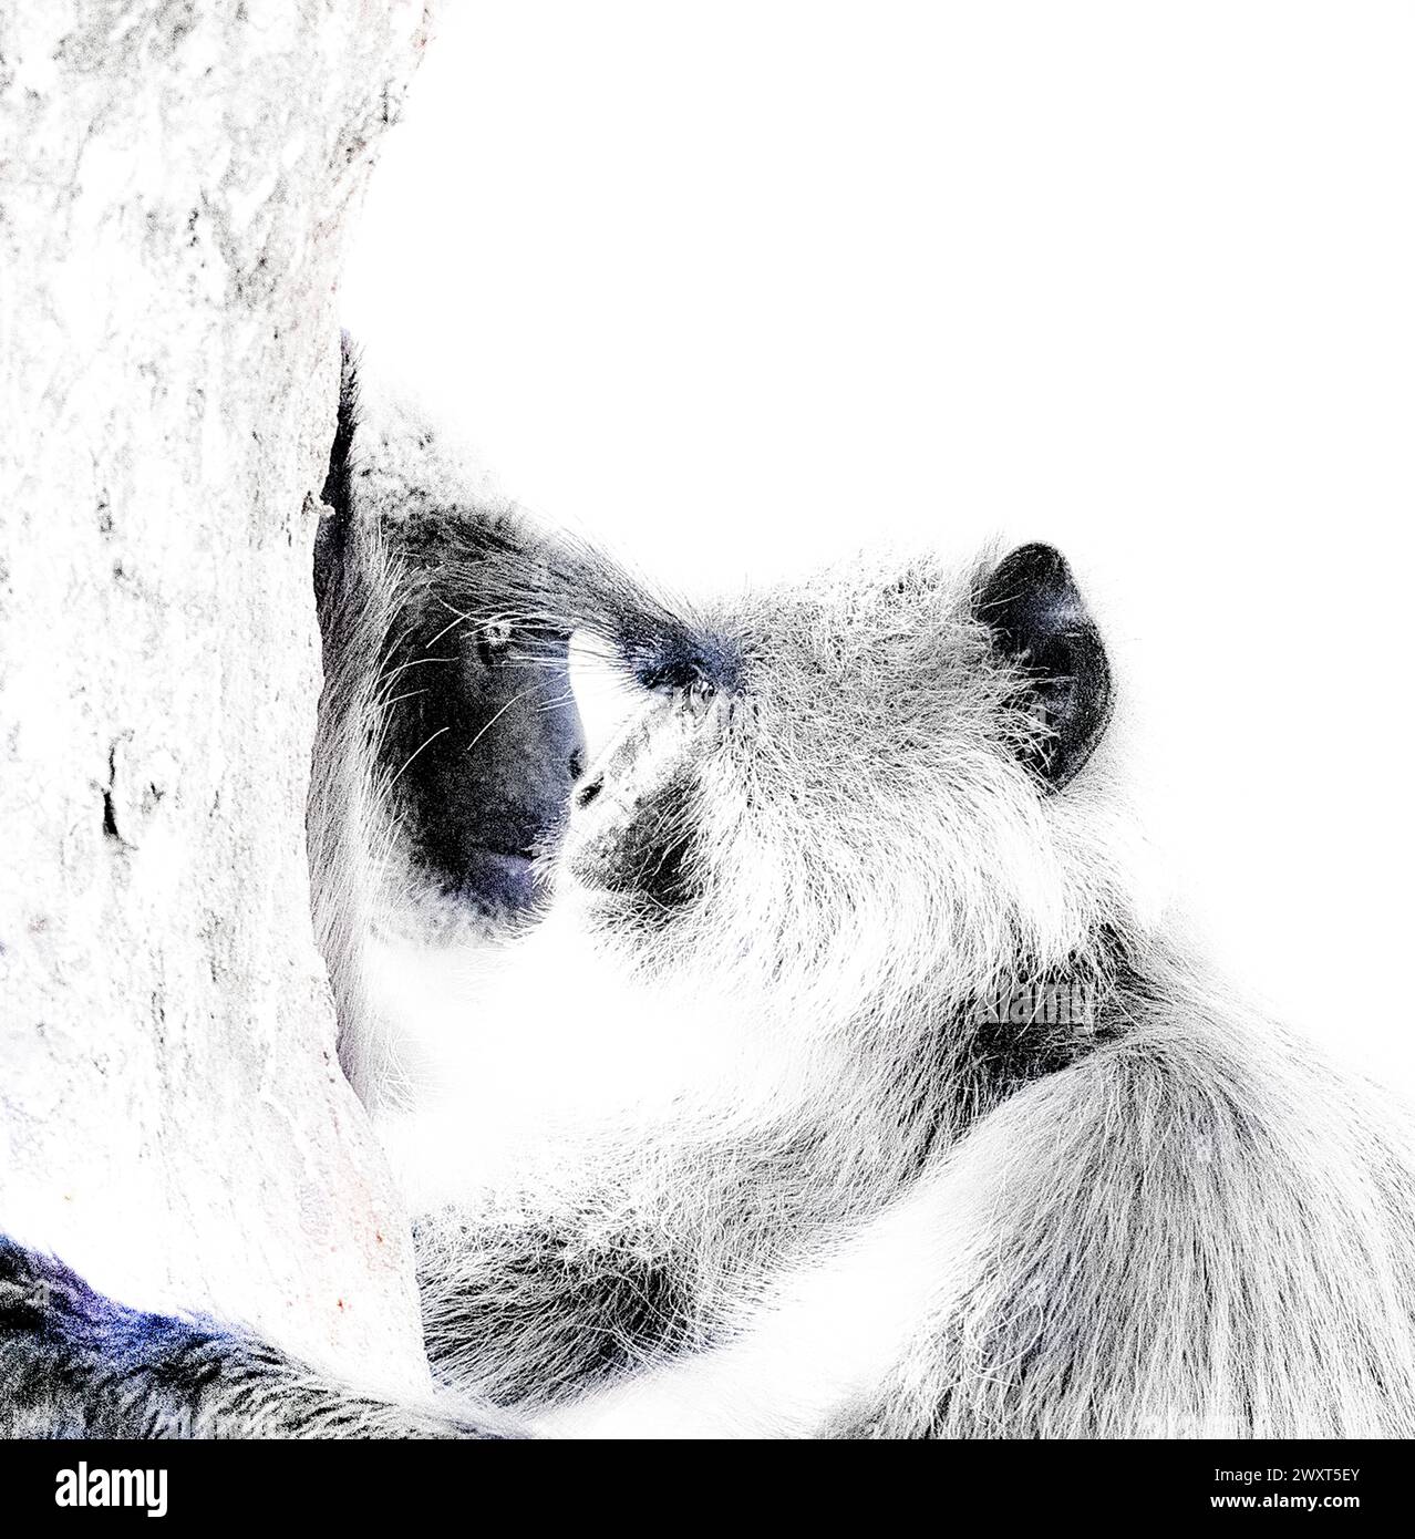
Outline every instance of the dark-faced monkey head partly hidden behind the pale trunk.
<svg viewBox="0 0 1415 1539"><path fill-rule="evenodd" d="M553 848L584 770L568 629L508 613L537 608L525 600L540 591L540 568L554 569L548 532L386 380L374 374L368 389L348 336L323 503L316 845L328 851L331 830L359 823L393 930L456 939L517 928L544 896L533 857ZM377 813L362 819L339 773L350 762L370 771ZM322 870L325 911L331 893L360 885Z"/></svg>

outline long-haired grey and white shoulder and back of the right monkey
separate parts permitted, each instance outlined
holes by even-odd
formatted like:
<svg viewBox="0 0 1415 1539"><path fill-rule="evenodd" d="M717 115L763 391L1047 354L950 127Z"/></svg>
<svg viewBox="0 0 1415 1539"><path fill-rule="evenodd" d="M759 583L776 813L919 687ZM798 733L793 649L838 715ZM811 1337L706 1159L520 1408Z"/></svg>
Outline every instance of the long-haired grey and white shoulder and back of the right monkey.
<svg viewBox="0 0 1415 1539"><path fill-rule="evenodd" d="M950 1260L865 1436L1415 1433L1406 1110L1178 971L950 1156Z"/></svg>

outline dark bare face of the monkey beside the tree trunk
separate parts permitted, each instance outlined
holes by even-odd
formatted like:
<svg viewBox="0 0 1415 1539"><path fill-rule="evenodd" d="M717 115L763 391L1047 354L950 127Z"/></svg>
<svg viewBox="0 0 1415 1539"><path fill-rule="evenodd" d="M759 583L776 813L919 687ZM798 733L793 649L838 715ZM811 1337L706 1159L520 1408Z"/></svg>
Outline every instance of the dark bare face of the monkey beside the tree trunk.
<svg viewBox="0 0 1415 1539"><path fill-rule="evenodd" d="M584 770L567 643L445 620L399 649L380 759L414 876L454 911L513 923L544 897L534 862Z"/></svg>

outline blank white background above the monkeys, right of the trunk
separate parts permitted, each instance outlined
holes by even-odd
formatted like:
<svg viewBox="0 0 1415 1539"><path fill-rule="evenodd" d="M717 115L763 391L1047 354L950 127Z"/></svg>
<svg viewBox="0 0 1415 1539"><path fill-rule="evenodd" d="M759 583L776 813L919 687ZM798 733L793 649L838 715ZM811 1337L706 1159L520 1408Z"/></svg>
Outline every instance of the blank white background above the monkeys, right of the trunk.
<svg viewBox="0 0 1415 1539"><path fill-rule="evenodd" d="M685 582L1072 556L1232 971L1415 1090L1415 8L448 5L345 317Z"/></svg>

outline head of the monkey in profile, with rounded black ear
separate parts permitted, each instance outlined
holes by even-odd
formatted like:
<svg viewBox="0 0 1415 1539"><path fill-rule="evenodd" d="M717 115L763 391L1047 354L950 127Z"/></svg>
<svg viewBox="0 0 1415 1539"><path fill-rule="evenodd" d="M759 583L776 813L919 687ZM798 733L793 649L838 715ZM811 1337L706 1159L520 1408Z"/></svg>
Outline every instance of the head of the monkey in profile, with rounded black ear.
<svg viewBox="0 0 1415 1539"><path fill-rule="evenodd" d="M641 702L562 859L645 966L850 997L1059 963L1122 919L1110 669L1065 560L851 569L619 628Z"/></svg>

